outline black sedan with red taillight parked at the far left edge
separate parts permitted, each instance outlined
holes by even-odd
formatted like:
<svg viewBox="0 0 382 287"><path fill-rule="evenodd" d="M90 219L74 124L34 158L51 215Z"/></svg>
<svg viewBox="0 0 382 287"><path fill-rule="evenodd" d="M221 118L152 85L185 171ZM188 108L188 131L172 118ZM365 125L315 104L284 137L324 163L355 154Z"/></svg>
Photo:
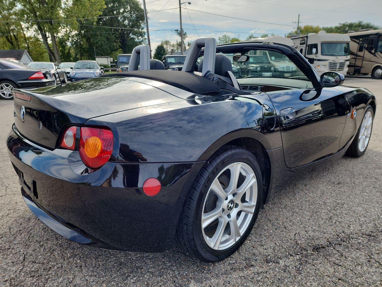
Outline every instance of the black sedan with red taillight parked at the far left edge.
<svg viewBox="0 0 382 287"><path fill-rule="evenodd" d="M54 84L50 70L28 68L12 60L0 59L1 99L13 99L14 88L32 89Z"/></svg>

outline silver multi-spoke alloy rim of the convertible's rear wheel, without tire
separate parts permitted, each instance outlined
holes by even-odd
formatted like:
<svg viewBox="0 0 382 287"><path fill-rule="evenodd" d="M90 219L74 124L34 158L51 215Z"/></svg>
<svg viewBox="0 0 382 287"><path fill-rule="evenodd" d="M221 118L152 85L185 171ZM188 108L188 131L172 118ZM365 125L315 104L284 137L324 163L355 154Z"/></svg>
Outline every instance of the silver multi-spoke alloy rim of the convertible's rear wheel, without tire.
<svg viewBox="0 0 382 287"><path fill-rule="evenodd" d="M207 245L214 250L233 246L251 223L256 203L253 169L243 162L224 168L212 182L203 204L201 227Z"/></svg>

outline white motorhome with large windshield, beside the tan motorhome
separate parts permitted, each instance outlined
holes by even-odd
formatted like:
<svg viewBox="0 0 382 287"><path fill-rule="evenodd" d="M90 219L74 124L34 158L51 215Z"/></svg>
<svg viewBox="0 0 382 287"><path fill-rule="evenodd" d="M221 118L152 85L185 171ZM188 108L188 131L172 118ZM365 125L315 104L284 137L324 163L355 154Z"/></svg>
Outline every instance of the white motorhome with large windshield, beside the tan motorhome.
<svg viewBox="0 0 382 287"><path fill-rule="evenodd" d="M322 74L335 71L346 75L350 61L350 37L345 34L319 31L308 35L292 35L294 47Z"/></svg>

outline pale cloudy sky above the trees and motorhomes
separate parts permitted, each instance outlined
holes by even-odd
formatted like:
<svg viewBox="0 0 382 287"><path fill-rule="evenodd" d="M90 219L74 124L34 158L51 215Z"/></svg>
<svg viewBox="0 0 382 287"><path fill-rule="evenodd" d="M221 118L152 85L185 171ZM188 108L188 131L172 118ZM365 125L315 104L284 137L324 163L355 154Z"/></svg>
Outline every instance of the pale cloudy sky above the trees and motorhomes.
<svg viewBox="0 0 382 287"><path fill-rule="evenodd" d="M296 28L297 24L293 22L297 22L298 14L301 25L335 26L342 22L362 20L382 26L382 0L189 1L191 5L182 5L183 29L187 33L185 42L199 37L217 39L223 34L241 39L247 38L251 33L256 36L264 33L284 36ZM149 12L149 34L153 52L162 40L180 40L174 31L170 31L180 28L178 0L146 0L146 8Z"/></svg>

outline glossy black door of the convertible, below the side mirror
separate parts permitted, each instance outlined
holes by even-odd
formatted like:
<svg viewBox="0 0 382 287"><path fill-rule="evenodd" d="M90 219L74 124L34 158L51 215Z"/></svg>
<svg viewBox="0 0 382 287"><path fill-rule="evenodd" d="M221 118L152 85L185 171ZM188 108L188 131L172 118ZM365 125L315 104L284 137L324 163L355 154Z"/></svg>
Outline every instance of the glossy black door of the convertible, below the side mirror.
<svg viewBox="0 0 382 287"><path fill-rule="evenodd" d="M340 150L345 127L343 93L333 88L269 93L279 115L286 166L295 168ZM288 117L280 112L293 108Z"/></svg>

